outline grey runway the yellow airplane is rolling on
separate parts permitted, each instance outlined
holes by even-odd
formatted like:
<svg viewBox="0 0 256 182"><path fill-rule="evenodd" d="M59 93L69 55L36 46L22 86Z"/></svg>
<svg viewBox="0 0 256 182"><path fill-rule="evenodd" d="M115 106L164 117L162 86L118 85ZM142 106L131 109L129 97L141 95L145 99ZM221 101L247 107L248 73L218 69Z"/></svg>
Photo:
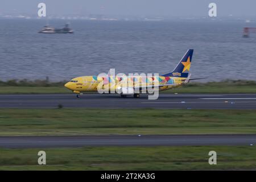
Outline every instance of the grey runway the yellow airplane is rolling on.
<svg viewBox="0 0 256 182"><path fill-rule="evenodd" d="M0 108L158 108L158 109L256 109L256 94L160 94L158 100L121 98L118 94L14 94L0 95Z"/></svg>

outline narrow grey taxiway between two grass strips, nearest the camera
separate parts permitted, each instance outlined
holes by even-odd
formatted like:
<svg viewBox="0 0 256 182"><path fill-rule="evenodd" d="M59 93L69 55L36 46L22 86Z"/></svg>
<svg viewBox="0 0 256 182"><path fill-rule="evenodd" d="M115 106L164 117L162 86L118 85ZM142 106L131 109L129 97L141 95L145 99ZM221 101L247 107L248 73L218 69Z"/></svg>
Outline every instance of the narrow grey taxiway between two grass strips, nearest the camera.
<svg viewBox="0 0 256 182"><path fill-rule="evenodd" d="M0 137L0 148L42 148L83 146L250 146L255 144L256 134Z"/></svg>

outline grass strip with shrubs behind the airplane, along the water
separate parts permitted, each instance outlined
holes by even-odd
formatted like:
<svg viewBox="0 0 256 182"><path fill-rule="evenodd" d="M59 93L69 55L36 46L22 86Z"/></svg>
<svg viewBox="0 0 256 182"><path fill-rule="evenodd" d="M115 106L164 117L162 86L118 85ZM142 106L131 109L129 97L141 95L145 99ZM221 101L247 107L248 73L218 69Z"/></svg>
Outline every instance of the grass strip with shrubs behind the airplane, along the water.
<svg viewBox="0 0 256 182"><path fill-rule="evenodd" d="M72 93L64 88L63 82L48 83L47 81L0 81L0 94L46 94ZM255 81L226 80L221 82L191 82L179 88L160 93L256 93Z"/></svg>

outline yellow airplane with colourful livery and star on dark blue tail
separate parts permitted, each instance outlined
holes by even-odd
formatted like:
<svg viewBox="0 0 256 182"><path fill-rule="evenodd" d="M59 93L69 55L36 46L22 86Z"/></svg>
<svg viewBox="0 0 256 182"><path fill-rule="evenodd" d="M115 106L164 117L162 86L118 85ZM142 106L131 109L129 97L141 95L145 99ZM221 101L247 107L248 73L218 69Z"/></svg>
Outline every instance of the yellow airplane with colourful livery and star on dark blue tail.
<svg viewBox="0 0 256 182"><path fill-rule="evenodd" d="M152 86L154 88L154 85L157 85L158 89L160 91L162 90L168 90L175 88L177 86L181 86L183 84L187 84L189 80L196 80L199 78L190 79L191 74L189 74L189 69L191 66L191 60L193 55L193 49L188 49L188 51L185 53L183 58L180 60L179 64L175 67L174 71L171 73L167 73L165 75L157 77L158 79L154 79L154 77L128 77L128 84L130 84L130 81L132 82L129 86L123 86L121 84L124 80L122 80L123 77L120 76L81 76L73 78L71 81L67 82L64 86L68 88L69 90L72 90L73 93L77 94L77 98L80 97L80 94L83 92L97 92L99 88L105 89L106 85L109 86L109 89L113 89L115 92L121 95L121 97L126 97L129 95L133 95L134 97L138 98L139 93L135 92L135 89L139 89L142 91L142 89L146 88L147 92L147 86ZM130 80L131 79L131 80ZM127 81L126 80L126 81ZM156 84L157 82L157 84ZM112 92L113 93L113 92Z"/></svg>

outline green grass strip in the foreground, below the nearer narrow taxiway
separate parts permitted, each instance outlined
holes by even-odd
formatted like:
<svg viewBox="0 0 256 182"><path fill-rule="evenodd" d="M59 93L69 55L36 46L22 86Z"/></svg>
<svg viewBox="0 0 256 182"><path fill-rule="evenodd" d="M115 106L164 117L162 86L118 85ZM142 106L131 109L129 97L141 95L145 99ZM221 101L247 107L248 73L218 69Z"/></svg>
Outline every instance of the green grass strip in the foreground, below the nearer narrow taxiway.
<svg viewBox="0 0 256 182"><path fill-rule="evenodd" d="M216 170L256 169L255 146L47 148L47 165L38 165L41 149L0 149L0 170ZM209 151L217 165L209 165Z"/></svg>

